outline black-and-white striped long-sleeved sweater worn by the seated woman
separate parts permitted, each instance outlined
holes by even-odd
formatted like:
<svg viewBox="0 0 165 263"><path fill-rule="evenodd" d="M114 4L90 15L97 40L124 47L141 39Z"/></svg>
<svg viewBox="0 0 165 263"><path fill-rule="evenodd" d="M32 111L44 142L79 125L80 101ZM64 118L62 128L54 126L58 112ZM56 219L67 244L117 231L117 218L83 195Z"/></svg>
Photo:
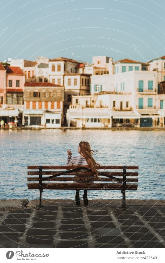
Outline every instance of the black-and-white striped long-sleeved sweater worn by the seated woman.
<svg viewBox="0 0 165 263"><path fill-rule="evenodd" d="M68 158L66 160L66 165L82 165L82 166L86 166L88 165L87 164L87 161L85 159L85 157L81 156L81 155L78 155L78 156L69 156L68 155ZM77 172L82 172L83 170L77 170L75 173ZM75 175L75 177L82 177L81 175ZM89 176L83 176L83 177L89 177Z"/></svg>

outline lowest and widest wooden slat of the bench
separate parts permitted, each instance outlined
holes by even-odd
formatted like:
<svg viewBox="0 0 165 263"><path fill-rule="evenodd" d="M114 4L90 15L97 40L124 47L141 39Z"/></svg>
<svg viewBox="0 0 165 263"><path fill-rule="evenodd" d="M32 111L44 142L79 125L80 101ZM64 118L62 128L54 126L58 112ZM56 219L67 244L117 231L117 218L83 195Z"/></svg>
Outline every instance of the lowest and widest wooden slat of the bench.
<svg viewBox="0 0 165 263"><path fill-rule="evenodd" d="M89 190L122 190L123 185L120 183L104 184L104 183L43 183L44 189L58 189L58 190L75 190L75 189L89 189ZM38 183L28 183L28 189L39 189ZM137 190L137 184L126 184L126 190Z"/></svg>

